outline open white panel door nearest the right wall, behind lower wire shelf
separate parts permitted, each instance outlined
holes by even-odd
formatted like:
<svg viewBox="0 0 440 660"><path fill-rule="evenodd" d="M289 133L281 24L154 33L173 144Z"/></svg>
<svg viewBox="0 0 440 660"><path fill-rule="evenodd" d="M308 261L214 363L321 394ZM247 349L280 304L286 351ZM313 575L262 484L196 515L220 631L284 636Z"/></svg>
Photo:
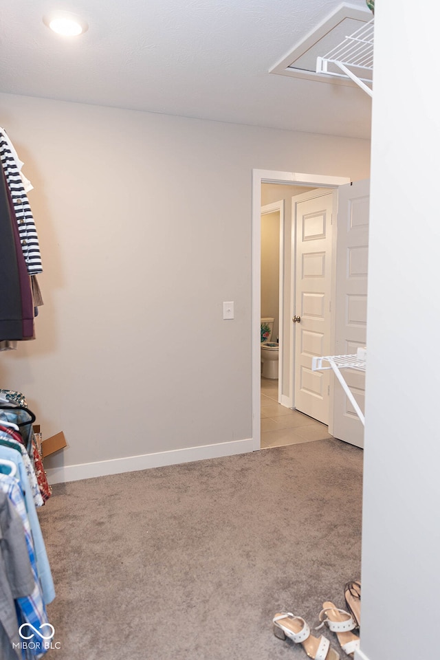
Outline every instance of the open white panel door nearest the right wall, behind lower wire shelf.
<svg viewBox="0 0 440 660"><path fill-rule="evenodd" d="M353 355L359 347L364 347L366 342L369 201L369 179L340 186L338 190L336 348L332 355ZM340 440L363 447L364 427L340 383L333 374L332 377L334 379L333 423L329 431ZM364 373L344 369L344 380L362 412L365 412Z"/></svg>

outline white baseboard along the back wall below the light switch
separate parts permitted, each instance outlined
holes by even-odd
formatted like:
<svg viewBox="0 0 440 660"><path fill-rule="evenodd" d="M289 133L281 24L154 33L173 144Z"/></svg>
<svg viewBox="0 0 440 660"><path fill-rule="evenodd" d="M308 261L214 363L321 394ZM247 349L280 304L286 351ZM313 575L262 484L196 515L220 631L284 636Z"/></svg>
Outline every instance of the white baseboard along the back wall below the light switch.
<svg viewBox="0 0 440 660"><path fill-rule="evenodd" d="M177 463L188 463L203 459L217 459L221 456L246 454L252 452L252 445L253 440L250 438L232 442L221 442L215 445L188 447L169 452L125 456L122 459L111 459L109 461L49 467L46 470L47 481L50 484L65 483L66 481L78 481L79 479L89 479L95 476L106 476L107 474L147 470L149 467L163 467L164 465L176 465Z"/></svg>

